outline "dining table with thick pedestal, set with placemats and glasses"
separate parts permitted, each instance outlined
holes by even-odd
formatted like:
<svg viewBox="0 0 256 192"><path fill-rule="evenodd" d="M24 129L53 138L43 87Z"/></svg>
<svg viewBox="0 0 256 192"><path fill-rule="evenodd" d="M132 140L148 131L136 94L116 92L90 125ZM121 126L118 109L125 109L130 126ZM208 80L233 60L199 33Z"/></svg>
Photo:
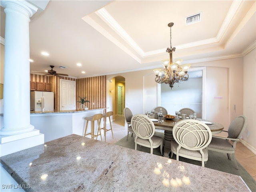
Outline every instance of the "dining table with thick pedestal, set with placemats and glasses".
<svg viewBox="0 0 256 192"><path fill-rule="evenodd" d="M173 119L166 119L162 118L162 121L154 119L154 117L151 117L152 122L155 125L156 129L164 130L164 157L170 157L171 152L171 141L174 140L172 136L172 128L174 125L181 120L181 118L173 118ZM212 122L210 120L205 120L201 118L196 118L197 120L200 120L204 122L211 130L212 134L218 134L223 129L224 126L222 124L219 124L217 122Z"/></svg>

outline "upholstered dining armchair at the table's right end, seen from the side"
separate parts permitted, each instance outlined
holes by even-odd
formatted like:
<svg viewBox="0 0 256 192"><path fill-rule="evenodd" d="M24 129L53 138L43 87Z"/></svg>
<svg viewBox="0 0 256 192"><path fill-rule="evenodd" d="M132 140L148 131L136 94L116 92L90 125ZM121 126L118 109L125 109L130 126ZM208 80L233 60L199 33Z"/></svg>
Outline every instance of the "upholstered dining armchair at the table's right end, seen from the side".
<svg viewBox="0 0 256 192"><path fill-rule="evenodd" d="M238 116L230 123L228 131L222 130L222 132L228 133L228 137L212 136L212 141L208 145L208 150L226 153L228 159L231 160L230 154L233 155L234 164L236 169L238 165L236 162L236 143L240 140L240 137L244 133L247 125L246 116ZM231 142L230 142L231 141ZM233 143L233 144L232 144Z"/></svg>

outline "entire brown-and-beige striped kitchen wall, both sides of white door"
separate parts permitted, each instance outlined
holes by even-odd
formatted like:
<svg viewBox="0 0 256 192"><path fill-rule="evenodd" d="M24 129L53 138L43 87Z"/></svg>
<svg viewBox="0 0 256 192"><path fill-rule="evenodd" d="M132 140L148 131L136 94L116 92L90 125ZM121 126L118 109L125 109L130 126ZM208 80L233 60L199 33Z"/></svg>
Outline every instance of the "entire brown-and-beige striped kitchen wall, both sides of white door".
<svg viewBox="0 0 256 192"><path fill-rule="evenodd" d="M89 103L86 106L90 108L106 107L106 76L90 77L75 79L63 77L62 79L76 81L76 100L80 97L86 97ZM52 91L54 92L54 109L60 110L60 78L57 76L43 76L30 74L30 80L35 82L52 83ZM80 108L77 102L76 108Z"/></svg>

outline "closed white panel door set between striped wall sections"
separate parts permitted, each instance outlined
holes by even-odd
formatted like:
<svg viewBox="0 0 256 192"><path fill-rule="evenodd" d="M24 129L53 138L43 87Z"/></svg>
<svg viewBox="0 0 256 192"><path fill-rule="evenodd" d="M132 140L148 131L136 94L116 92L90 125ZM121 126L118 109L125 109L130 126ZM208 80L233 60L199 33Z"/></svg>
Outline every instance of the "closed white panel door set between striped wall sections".
<svg viewBox="0 0 256 192"><path fill-rule="evenodd" d="M76 82L60 79L60 110L76 109Z"/></svg>

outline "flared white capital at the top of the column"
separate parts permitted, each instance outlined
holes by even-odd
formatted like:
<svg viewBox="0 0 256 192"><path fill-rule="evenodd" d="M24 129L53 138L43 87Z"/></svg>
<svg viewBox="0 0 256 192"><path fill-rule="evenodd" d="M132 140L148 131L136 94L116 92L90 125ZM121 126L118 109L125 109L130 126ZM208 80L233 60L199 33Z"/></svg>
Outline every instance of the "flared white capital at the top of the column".
<svg viewBox="0 0 256 192"><path fill-rule="evenodd" d="M6 9L21 12L28 18L32 17L38 10L35 6L25 0L1 0L1 6ZM6 12L5 9L5 12Z"/></svg>

